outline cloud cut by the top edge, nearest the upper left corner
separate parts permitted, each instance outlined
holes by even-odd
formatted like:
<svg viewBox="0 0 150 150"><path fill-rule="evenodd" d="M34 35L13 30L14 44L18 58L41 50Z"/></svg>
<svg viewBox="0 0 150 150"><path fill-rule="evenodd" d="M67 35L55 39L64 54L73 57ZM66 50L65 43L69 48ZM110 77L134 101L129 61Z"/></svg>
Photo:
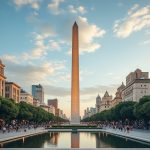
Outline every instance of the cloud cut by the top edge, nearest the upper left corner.
<svg viewBox="0 0 150 150"><path fill-rule="evenodd" d="M39 10L40 1L41 0L13 0L13 3L17 7L23 7L23 6L29 5L31 8L33 8L35 10Z"/></svg>

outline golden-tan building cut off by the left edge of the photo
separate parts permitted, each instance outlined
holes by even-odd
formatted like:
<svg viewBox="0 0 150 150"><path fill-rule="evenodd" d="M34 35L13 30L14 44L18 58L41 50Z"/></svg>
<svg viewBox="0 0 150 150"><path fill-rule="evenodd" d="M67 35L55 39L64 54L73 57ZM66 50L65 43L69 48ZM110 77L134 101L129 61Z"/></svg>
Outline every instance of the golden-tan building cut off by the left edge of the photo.
<svg viewBox="0 0 150 150"><path fill-rule="evenodd" d="M5 80L6 77L4 75L5 65L0 60L0 96L5 97Z"/></svg>

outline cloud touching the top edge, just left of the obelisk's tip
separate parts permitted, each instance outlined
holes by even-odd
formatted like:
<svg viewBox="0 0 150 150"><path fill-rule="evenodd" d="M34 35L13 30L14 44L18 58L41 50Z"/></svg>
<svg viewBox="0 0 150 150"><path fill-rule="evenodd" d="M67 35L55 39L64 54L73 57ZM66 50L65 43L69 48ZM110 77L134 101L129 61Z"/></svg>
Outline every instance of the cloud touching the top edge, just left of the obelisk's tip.
<svg viewBox="0 0 150 150"><path fill-rule="evenodd" d="M50 9L54 15L59 15L63 12L63 10L59 8L59 6L64 1L65 0L52 0L51 3L48 4L48 9Z"/></svg>

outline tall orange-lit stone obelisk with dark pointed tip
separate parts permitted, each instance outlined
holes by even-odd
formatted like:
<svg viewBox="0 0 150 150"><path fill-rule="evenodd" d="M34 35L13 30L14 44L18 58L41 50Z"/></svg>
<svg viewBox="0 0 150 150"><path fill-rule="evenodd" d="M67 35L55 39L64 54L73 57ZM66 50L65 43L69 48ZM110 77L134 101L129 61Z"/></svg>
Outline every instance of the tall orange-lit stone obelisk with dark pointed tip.
<svg viewBox="0 0 150 150"><path fill-rule="evenodd" d="M79 40L75 22L72 28L71 124L80 124L79 92Z"/></svg>

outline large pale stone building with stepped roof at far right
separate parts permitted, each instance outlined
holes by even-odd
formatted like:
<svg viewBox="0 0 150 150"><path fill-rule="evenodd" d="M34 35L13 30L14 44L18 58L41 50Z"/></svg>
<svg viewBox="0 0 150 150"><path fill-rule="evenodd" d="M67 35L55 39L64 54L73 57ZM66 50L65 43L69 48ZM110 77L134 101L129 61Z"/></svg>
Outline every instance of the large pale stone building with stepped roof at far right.
<svg viewBox="0 0 150 150"><path fill-rule="evenodd" d="M139 101L143 96L150 95L150 79L148 72L136 69L126 77L126 86L122 90L123 101Z"/></svg>

